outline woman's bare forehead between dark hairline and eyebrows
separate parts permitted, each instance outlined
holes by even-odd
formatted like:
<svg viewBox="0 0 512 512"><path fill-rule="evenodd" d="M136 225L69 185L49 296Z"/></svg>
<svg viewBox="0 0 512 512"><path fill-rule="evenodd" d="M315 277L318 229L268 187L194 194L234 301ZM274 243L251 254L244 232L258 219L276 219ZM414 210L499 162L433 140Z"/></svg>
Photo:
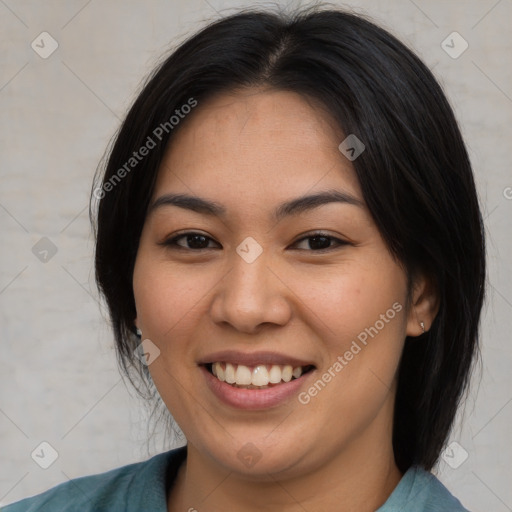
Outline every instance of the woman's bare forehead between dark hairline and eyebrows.
<svg viewBox="0 0 512 512"><path fill-rule="evenodd" d="M155 195L180 191L261 204L340 188L361 197L343 132L314 99L246 89L198 103L171 139Z"/></svg>

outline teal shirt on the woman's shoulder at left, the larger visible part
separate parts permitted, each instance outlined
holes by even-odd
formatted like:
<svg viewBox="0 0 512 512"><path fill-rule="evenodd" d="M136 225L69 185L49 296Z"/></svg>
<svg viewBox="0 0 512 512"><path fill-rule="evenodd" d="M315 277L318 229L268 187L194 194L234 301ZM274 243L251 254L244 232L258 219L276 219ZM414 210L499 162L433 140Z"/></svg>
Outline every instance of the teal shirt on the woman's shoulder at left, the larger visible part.
<svg viewBox="0 0 512 512"><path fill-rule="evenodd" d="M159 511L166 503L167 472L173 467L177 470L185 453L185 447L177 448L143 462L74 478L7 505L1 512L130 511L141 510L141 506Z"/></svg>

